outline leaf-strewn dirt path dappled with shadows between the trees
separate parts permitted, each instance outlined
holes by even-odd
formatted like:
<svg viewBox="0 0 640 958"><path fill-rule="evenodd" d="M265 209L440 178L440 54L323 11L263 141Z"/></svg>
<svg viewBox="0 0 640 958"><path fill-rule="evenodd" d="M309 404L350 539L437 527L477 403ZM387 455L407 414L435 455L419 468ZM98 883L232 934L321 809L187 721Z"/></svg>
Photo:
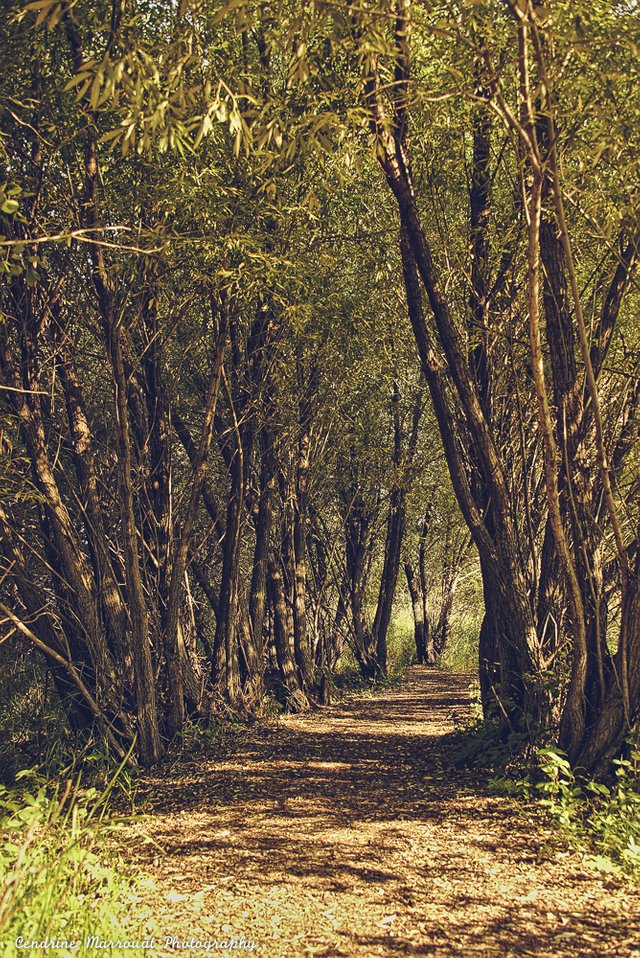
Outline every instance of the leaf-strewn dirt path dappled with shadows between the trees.
<svg viewBox="0 0 640 958"><path fill-rule="evenodd" d="M140 829L165 853L129 849L162 935L244 935L261 958L640 958L640 896L451 768L467 687L413 667L400 688L147 777Z"/></svg>

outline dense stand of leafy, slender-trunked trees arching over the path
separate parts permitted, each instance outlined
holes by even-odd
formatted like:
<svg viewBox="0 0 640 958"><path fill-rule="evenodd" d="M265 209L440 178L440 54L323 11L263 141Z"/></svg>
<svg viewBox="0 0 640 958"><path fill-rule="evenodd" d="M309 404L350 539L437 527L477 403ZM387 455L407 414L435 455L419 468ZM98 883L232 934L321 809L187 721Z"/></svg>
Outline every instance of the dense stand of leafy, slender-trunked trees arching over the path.
<svg viewBox="0 0 640 958"><path fill-rule="evenodd" d="M411 610L417 661L479 647L496 737L606 776L640 704L634 0L2 22L5 702L148 766L385 677Z"/></svg>

